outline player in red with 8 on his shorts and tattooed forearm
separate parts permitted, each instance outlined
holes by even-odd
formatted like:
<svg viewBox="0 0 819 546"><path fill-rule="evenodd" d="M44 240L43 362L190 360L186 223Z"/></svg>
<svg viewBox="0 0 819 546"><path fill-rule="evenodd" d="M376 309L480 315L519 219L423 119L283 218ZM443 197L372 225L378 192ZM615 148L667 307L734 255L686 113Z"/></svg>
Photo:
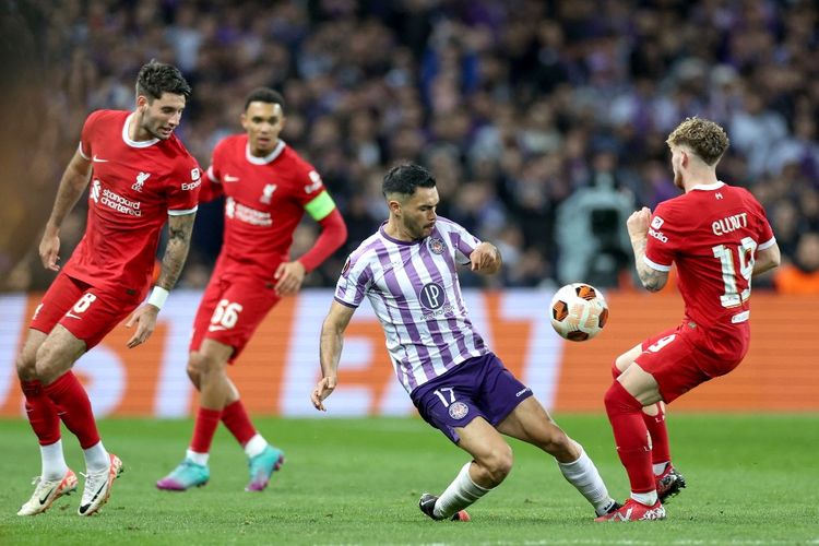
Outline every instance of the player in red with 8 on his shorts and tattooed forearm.
<svg viewBox="0 0 819 546"><path fill-rule="evenodd" d="M41 474L19 515L46 511L76 489L60 440L60 420L78 437L87 475L80 515L108 500L122 462L103 446L74 361L126 317L135 325L128 347L144 343L188 256L201 183L199 166L174 135L190 86L175 67L150 62L136 79L133 111L97 110L85 120L39 244L44 266L59 271L60 227L91 182L85 235L34 312L17 360L28 420L37 435ZM169 239L151 296L159 233Z"/></svg>

